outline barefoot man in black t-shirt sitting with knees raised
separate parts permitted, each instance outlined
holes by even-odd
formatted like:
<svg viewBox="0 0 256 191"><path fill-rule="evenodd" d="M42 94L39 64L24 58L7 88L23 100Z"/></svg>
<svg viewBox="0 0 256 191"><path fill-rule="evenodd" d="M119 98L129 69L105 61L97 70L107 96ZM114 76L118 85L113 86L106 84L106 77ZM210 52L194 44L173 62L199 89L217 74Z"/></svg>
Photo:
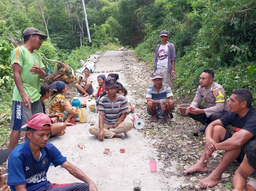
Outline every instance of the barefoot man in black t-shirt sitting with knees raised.
<svg viewBox="0 0 256 191"><path fill-rule="evenodd" d="M230 111L221 119L211 122L205 130L206 144L200 160L184 173L207 172L207 162L215 150L225 151L219 165L198 186L213 187L222 181L221 175L234 159L242 162L244 147L256 137L256 109L251 106L252 94L246 89L232 92L228 105ZM234 134L224 128L232 124Z"/></svg>

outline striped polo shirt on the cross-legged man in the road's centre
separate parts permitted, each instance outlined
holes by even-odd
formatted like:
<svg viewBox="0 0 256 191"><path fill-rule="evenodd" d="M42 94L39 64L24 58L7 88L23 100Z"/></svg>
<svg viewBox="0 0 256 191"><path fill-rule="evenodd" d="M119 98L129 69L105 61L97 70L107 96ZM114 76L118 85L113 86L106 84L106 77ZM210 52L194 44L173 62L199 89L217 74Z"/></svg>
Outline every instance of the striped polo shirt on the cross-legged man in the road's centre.
<svg viewBox="0 0 256 191"><path fill-rule="evenodd" d="M104 114L104 123L114 125L124 112L128 112L128 104L123 95L117 94L115 102L108 99L108 95L99 100L99 114Z"/></svg>

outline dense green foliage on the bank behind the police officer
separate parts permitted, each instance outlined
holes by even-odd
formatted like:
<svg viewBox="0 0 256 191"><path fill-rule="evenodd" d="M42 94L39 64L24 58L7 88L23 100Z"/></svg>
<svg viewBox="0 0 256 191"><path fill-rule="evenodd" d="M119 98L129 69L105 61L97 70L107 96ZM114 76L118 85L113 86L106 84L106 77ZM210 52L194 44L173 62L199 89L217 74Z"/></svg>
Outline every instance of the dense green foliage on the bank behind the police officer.
<svg viewBox="0 0 256 191"><path fill-rule="evenodd" d="M176 52L176 95L194 97L200 73L211 68L227 96L246 88L256 100L255 5L255 0L156 0L137 10L145 38L135 52L152 65L159 32L167 30Z"/></svg>

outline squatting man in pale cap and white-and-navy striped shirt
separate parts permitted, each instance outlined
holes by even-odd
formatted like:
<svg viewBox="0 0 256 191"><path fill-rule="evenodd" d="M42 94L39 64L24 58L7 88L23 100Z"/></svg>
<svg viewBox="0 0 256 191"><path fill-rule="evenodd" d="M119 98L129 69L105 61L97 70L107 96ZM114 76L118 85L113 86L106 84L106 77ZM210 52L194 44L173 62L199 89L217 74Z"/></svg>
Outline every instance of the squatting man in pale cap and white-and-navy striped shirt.
<svg viewBox="0 0 256 191"><path fill-rule="evenodd" d="M159 72L153 73L152 81L154 84L148 86L146 94L147 113L152 116L150 122L155 122L159 116L164 117L166 121L172 121L174 107L172 90L168 84L162 83L162 74Z"/></svg>

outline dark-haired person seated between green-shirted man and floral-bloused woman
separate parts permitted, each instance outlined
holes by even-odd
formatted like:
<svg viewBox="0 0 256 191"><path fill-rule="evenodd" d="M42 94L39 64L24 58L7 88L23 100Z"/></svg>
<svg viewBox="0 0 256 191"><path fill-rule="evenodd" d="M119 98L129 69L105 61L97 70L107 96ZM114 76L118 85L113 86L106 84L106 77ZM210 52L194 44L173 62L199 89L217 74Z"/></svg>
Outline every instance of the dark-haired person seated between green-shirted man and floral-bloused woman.
<svg viewBox="0 0 256 191"><path fill-rule="evenodd" d="M41 89L40 94L42 95L40 97L40 101L43 106L44 114L46 114L44 100L49 99L49 97L51 95L51 88L48 84L41 84L40 89ZM48 117L51 118L51 122L53 124L51 132L50 132L51 137L64 135L65 129L66 129L66 124L65 123L55 123L59 116L57 114L52 114L52 115L48 115Z"/></svg>

